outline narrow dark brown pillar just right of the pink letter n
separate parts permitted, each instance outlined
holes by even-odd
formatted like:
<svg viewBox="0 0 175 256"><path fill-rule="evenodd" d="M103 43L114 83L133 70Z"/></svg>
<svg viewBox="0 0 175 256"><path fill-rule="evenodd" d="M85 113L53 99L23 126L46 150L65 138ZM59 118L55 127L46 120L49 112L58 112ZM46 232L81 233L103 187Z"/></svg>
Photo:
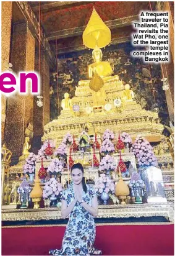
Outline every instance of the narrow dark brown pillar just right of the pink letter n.
<svg viewBox="0 0 175 256"><path fill-rule="evenodd" d="M44 126L49 122L49 60L44 50L35 53L35 71L39 73L39 63L41 63L41 96L43 96L43 107L36 104L37 98L34 99L33 109L33 145L32 151L37 153L41 147L41 137L44 133Z"/></svg>

